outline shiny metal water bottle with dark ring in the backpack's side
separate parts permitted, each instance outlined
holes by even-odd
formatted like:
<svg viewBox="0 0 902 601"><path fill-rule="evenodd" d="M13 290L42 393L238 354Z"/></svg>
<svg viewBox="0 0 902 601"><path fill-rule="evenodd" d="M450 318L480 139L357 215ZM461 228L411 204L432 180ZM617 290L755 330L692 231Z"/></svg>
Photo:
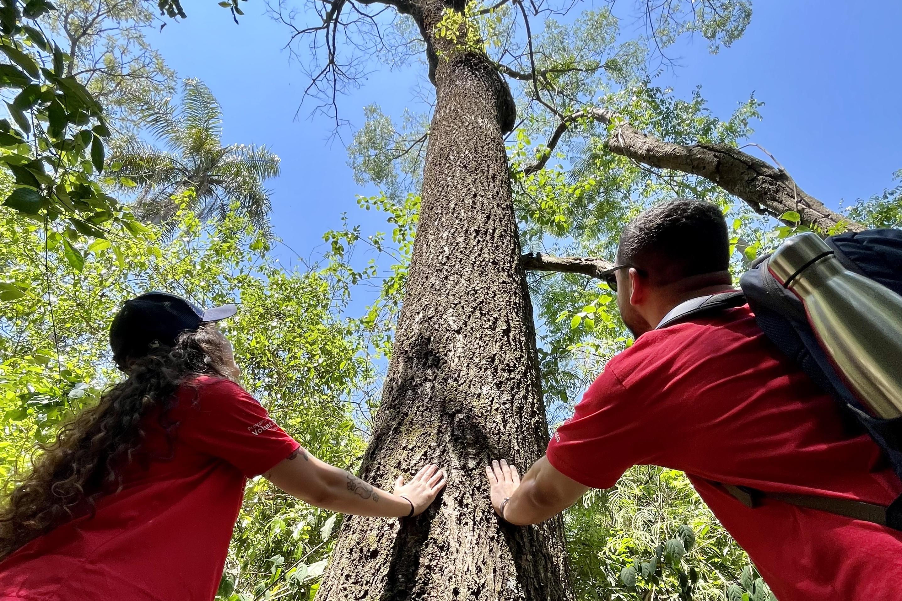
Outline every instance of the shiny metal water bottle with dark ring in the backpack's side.
<svg viewBox="0 0 902 601"><path fill-rule="evenodd" d="M878 417L902 415L902 296L845 269L811 232L786 241L768 270L805 305L821 346L861 402Z"/></svg>

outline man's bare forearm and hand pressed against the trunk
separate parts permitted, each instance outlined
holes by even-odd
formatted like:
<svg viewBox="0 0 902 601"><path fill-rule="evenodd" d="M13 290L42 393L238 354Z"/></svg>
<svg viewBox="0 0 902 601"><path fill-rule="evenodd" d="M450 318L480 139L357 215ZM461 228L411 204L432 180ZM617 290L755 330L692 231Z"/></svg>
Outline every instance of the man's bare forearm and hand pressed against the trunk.
<svg viewBox="0 0 902 601"><path fill-rule="evenodd" d="M544 522L573 505L589 489L557 471L548 457L533 463L522 481L517 468L505 460L492 461L485 475L495 512L517 525Z"/></svg>

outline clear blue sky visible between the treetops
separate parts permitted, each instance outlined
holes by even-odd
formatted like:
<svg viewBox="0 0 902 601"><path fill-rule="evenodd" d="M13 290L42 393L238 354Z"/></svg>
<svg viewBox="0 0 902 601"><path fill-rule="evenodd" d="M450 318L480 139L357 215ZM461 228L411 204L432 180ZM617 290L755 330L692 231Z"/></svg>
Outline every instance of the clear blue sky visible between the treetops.
<svg viewBox="0 0 902 601"><path fill-rule="evenodd" d="M300 0L299 0L300 1ZM714 114L727 117L754 92L765 105L750 139L768 149L800 187L831 206L890 184L902 168L902 83L898 23L902 3L880 0L754 0L740 41L710 55L704 39L686 39L667 51L676 68L656 82L688 97L701 85ZM281 157L271 183L275 232L308 256L322 233L349 214L364 232L386 229L380 217L358 209L344 141L333 123L299 109L307 79L282 50L288 30L262 14L262 0L243 4L240 25L211 0L186 4L189 18L152 35L152 43L181 77L199 77L224 111L226 143L266 144ZM630 25L626 25L630 27ZM629 31L627 31L629 32ZM400 115L428 86L419 65L377 68L358 90L341 98L342 115L363 124L363 107ZM293 253L277 250L290 264Z"/></svg>

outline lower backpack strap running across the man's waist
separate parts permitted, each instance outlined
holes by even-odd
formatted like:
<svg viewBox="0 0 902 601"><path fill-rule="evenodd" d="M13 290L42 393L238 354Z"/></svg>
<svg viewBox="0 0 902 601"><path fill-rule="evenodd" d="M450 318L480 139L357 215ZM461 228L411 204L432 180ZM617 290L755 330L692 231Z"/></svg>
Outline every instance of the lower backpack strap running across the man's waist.
<svg viewBox="0 0 902 601"><path fill-rule="evenodd" d="M762 499L773 499L782 501L789 505L797 507L805 507L807 509L817 509L826 511L831 514L844 515L851 517L853 520L861 520L881 526L888 526L895 530L902 530L902 496L897 498L892 505L888 507L884 505L875 505L873 503L864 503L863 501L851 501L849 499L838 499L829 496L816 495L796 495L795 493L766 493L762 490L750 487L737 487L732 484L724 484L723 482L714 482L709 480L711 484L721 487L736 497L742 505L754 509L761 504Z"/></svg>

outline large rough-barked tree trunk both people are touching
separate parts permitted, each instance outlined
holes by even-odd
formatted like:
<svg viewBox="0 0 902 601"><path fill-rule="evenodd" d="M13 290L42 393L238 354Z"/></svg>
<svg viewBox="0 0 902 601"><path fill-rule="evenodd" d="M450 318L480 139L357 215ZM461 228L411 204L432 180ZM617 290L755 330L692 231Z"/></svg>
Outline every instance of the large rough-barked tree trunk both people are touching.
<svg viewBox="0 0 902 601"><path fill-rule="evenodd" d="M416 15L424 29L438 11ZM349 516L318 599L568 599L560 518L502 524L484 473L493 458L528 467L548 442L502 140L511 93L468 52L438 60L434 81L419 229L361 476L391 488L435 462L447 486L400 524Z"/></svg>

